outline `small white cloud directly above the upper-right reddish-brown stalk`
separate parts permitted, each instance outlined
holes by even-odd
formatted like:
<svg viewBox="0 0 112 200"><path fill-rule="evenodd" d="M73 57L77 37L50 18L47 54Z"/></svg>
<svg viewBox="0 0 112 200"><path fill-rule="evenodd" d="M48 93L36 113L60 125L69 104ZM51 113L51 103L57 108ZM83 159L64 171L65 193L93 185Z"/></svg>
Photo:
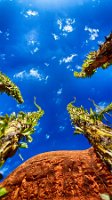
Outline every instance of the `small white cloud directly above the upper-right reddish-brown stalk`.
<svg viewBox="0 0 112 200"><path fill-rule="evenodd" d="M90 28L88 26L85 26L84 30L89 32L90 40L95 40L98 37L99 29Z"/></svg>

